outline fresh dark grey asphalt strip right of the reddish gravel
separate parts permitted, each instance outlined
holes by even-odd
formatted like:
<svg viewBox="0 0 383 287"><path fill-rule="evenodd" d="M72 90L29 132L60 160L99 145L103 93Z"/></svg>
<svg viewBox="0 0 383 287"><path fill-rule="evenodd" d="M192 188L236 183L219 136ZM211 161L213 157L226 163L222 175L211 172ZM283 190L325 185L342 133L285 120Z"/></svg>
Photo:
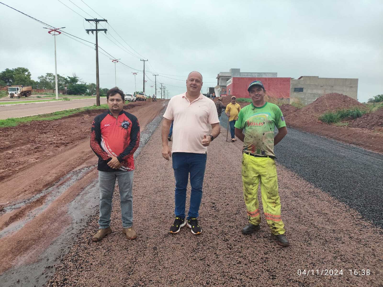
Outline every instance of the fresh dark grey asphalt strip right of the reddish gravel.
<svg viewBox="0 0 383 287"><path fill-rule="evenodd" d="M225 137L227 121L223 113ZM383 227L383 155L293 128L275 154L278 163Z"/></svg>

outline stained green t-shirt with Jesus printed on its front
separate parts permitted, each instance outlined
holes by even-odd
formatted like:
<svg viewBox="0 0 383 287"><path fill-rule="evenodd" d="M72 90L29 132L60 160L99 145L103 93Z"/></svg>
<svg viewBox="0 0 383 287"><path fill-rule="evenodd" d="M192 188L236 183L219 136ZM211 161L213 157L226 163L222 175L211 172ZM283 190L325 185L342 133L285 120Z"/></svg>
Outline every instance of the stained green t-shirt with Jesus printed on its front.
<svg viewBox="0 0 383 287"><path fill-rule="evenodd" d="M262 107L254 107L251 103L238 114L234 125L244 130L245 139L242 152L250 152L260 156L275 156L274 154L274 128L286 126L281 109L272 103L266 102Z"/></svg>

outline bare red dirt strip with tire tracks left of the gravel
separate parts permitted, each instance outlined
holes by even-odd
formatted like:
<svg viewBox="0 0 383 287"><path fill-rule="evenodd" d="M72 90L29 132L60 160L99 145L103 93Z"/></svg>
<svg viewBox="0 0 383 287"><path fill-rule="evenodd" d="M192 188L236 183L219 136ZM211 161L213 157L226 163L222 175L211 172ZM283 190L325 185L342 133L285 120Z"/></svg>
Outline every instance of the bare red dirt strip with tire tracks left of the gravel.
<svg viewBox="0 0 383 287"><path fill-rule="evenodd" d="M164 101L147 101L124 109L136 115L145 130L163 107ZM0 131L0 274L33 262L72 220L68 204L97 178L89 136L100 113Z"/></svg>

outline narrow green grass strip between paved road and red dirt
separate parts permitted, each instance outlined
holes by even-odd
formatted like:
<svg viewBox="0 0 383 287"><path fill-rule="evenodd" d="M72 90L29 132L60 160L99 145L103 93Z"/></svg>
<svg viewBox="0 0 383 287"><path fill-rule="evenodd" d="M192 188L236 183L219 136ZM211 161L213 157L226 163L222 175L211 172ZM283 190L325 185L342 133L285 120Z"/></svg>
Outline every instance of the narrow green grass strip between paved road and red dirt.
<svg viewBox="0 0 383 287"><path fill-rule="evenodd" d="M21 123L27 123L32 121L49 121L49 120L58 120L59 118L67 117L69 115L77 114L79 112L87 111L87 110L99 110L99 109L108 109L108 105L91 105L89 107L82 107L78 109L71 109L71 110L61 110L58 112L53 112L49 114L43 114L43 115L34 115L29 117L22 117L22 118L7 118L6 120L0 120L0 128L7 128L8 126L17 126Z"/></svg>

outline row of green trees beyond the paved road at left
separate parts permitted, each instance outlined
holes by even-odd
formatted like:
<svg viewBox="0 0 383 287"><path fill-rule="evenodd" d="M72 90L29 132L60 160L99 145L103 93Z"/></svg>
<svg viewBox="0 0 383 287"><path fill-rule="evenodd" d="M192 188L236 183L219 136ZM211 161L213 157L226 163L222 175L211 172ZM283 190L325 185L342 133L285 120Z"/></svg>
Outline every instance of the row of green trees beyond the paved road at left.
<svg viewBox="0 0 383 287"><path fill-rule="evenodd" d="M33 89L51 90L56 88L56 79L53 73L46 73L45 75L39 76L38 81L34 81L31 79L31 72L29 72L28 68L23 67L14 69L6 68L0 72L0 86L14 85L32 86ZM66 87L68 95L96 94L96 84L87 84L76 74L73 74L72 77L64 77L57 74L57 86L59 91L65 91ZM107 91L107 88L100 88L100 96L106 96Z"/></svg>

